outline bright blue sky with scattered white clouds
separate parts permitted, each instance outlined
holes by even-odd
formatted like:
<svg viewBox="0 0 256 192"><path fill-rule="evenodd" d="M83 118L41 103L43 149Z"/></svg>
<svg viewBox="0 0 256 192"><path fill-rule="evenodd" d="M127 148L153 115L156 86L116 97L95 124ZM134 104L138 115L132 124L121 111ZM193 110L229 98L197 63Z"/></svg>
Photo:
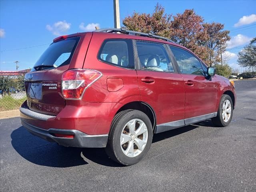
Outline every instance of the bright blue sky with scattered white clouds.
<svg viewBox="0 0 256 192"><path fill-rule="evenodd" d="M238 68L237 53L256 36L256 1L128 1L120 0L120 17L152 13L159 2L166 13L194 9L206 22L220 22L232 37L228 64ZM94 26L113 27L113 1L0 1L0 70L31 68L54 38L90 31ZM17 50L18 49L18 50Z"/></svg>

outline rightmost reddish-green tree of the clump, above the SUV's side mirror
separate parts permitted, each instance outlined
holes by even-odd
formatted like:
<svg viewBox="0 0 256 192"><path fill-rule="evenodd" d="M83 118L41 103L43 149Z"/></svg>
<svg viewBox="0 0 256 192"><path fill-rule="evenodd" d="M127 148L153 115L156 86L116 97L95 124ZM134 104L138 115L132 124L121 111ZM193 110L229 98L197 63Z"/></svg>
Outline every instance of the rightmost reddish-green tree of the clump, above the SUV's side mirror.
<svg viewBox="0 0 256 192"><path fill-rule="evenodd" d="M223 30L224 24L221 23L204 23L204 30L207 34L207 40L204 45L208 48L208 56L206 64L209 66L214 66L220 63L220 54L222 54L226 49L226 42L230 40L228 35L230 31Z"/></svg>

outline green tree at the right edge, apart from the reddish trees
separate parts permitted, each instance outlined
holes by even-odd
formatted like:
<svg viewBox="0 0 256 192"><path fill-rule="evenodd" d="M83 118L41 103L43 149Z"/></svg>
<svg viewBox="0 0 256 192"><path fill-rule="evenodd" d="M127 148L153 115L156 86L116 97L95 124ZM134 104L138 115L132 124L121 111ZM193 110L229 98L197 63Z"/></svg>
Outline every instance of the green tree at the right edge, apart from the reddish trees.
<svg viewBox="0 0 256 192"><path fill-rule="evenodd" d="M252 75L254 74L254 68L256 68L256 38L253 38L250 44L238 53L237 62L242 67L252 69Z"/></svg>

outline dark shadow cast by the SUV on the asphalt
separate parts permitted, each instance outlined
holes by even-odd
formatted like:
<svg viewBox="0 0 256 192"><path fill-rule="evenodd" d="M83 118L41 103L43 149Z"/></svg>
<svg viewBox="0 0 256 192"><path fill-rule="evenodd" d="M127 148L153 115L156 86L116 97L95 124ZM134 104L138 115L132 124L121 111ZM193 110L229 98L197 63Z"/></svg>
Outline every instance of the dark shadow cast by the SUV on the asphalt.
<svg viewBox="0 0 256 192"><path fill-rule="evenodd" d="M155 134L153 143L188 132L198 127L199 126L197 125L190 125ZM50 167L72 167L88 164L88 162L92 161L104 166L121 166L107 156L104 148L74 148L59 146L56 143L50 143L33 136L22 126L12 132L11 138L12 146L16 152L34 164Z"/></svg>

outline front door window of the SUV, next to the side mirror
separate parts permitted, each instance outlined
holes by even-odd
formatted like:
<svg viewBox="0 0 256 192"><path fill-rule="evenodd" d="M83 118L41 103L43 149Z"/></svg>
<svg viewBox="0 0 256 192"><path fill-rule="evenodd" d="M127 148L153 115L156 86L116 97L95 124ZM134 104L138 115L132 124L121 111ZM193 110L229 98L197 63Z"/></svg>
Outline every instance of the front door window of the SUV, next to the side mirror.
<svg viewBox="0 0 256 192"><path fill-rule="evenodd" d="M200 61L190 52L170 46L172 53L178 63L180 72L183 74L204 75Z"/></svg>

